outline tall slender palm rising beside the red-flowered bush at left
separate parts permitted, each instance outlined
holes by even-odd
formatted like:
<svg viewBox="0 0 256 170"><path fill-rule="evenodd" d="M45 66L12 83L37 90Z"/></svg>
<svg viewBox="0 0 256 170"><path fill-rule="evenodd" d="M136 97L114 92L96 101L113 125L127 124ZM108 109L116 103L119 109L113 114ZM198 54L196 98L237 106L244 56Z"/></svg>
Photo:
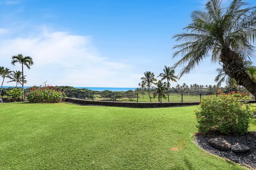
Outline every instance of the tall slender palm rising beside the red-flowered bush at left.
<svg viewBox="0 0 256 170"><path fill-rule="evenodd" d="M24 99L24 71L23 71L23 67L24 65L30 69L30 66L34 64L33 60L31 57L26 56L23 57L22 54L19 55L14 55L12 56L12 62L11 64L15 66L15 63L20 63L22 66L22 99Z"/></svg>

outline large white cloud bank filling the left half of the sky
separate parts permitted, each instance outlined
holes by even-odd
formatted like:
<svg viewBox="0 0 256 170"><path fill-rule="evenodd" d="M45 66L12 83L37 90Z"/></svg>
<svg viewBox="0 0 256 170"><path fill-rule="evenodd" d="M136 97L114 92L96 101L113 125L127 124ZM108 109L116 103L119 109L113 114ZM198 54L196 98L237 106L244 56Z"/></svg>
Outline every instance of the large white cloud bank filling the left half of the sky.
<svg viewBox="0 0 256 170"><path fill-rule="evenodd" d="M101 57L90 45L91 37L66 32L42 31L37 35L0 41L1 66L21 70L10 64L13 55L30 56L34 65L28 70L26 86L40 85L47 80L53 86L136 87L141 76L130 71L132 66ZM13 86L4 82L4 86Z"/></svg>

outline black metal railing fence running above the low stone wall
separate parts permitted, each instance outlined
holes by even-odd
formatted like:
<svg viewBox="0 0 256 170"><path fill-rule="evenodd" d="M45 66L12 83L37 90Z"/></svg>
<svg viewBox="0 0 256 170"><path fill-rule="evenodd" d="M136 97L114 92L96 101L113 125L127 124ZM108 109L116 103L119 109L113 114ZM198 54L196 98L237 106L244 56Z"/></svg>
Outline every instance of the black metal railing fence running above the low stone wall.
<svg viewBox="0 0 256 170"><path fill-rule="evenodd" d="M68 98L108 102L200 102L212 94L166 94L166 93L120 93L120 92L72 92L66 91Z"/></svg>

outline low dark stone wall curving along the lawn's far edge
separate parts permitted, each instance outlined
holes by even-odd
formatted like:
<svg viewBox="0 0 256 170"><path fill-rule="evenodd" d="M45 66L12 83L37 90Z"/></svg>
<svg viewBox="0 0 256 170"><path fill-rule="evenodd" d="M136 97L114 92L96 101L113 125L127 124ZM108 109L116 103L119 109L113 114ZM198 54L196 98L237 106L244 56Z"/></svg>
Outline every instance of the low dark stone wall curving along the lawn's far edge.
<svg viewBox="0 0 256 170"><path fill-rule="evenodd" d="M94 105L94 106L116 106L116 107L134 107L134 108L156 108L156 107L175 107L175 106L192 106L198 105L200 102L172 102L172 103L156 103L156 102L106 102L92 101L75 98L66 98L65 102L75 103L79 105Z"/></svg>

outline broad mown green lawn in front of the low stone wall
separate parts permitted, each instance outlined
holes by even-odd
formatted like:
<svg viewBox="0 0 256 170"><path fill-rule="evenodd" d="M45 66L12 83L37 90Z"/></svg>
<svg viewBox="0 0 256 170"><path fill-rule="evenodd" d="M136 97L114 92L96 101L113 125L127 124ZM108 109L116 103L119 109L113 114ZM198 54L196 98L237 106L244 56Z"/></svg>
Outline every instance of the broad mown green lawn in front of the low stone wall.
<svg viewBox="0 0 256 170"><path fill-rule="evenodd" d="M194 144L194 109L0 104L0 169L244 170Z"/></svg>

